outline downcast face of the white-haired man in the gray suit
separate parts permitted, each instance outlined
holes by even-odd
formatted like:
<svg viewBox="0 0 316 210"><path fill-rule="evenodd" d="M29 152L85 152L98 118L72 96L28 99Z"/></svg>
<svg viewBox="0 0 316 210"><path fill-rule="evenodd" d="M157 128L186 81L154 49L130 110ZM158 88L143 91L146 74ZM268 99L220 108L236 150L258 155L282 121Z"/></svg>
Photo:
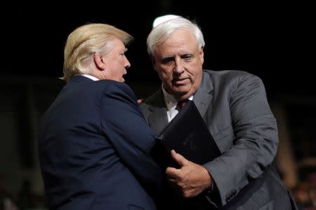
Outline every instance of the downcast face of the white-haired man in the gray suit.
<svg viewBox="0 0 316 210"><path fill-rule="evenodd" d="M164 43L156 45L152 64L164 89L176 99L195 94L202 80L203 49L190 31L178 29Z"/></svg>

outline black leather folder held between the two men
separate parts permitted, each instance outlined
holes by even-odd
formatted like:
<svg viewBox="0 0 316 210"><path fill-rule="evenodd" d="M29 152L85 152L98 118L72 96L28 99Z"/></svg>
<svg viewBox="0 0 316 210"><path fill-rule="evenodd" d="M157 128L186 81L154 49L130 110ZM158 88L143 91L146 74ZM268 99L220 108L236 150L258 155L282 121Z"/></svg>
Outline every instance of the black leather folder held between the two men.
<svg viewBox="0 0 316 210"><path fill-rule="evenodd" d="M171 158L171 150L187 160L203 165L221 155L216 142L192 101L157 134L153 154L162 167L178 167Z"/></svg>

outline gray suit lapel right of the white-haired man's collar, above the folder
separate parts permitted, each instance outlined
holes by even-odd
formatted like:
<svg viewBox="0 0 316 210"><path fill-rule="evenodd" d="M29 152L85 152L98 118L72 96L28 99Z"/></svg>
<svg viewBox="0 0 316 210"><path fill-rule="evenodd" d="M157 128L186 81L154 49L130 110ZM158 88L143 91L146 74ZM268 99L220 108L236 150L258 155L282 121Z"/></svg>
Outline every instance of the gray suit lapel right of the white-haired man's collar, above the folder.
<svg viewBox="0 0 316 210"><path fill-rule="evenodd" d="M204 117L207 109L211 109L211 100L213 99L212 92L213 85L211 84L209 73L203 72L201 85L199 85L199 90L197 90L193 97L193 102L195 102L202 117Z"/></svg>

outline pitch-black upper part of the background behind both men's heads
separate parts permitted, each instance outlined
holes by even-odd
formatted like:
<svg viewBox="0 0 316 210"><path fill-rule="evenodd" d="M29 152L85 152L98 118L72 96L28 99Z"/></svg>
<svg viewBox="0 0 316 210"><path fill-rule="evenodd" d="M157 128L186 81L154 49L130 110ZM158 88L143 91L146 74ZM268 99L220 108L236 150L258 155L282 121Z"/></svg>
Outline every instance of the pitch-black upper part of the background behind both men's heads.
<svg viewBox="0 0 316 210"><path fill-rule="evenodd" d="M3 8L5 10L5 8ZM22 3L3 20L6 47L2 73L56 78L62 75L67 35L87 22L104 22L129 31L129 79L156 80L146 53L146 37L157 15L174 13L196 20L204 31L207 69L244 69L258 74L272 92L312 90L312 13L289 3L212 3L136 1L78 5ZM315 42L315 41L313 41ZM314 44L315 45L315 44Z"/></svg>

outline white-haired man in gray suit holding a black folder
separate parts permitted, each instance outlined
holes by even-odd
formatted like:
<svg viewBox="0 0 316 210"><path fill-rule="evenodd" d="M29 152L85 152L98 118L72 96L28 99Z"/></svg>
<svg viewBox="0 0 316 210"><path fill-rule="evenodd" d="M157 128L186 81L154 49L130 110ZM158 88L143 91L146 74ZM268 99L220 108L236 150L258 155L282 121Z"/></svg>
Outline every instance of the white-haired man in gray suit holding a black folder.
<svg viewBox="0 0 316 210"><path fill-rule="evenodd" d="M166 18L157 20L147 37L147 52L162 88L141 104L144 116L160 132L178 113L178 102L193 100L222 153L197 165L171 151L180 168L168 167L166 176L184 199L166 207L296 209L273 166L277 122L262 80L245 71L203 69L202 31L185 18Z"/></svg>

